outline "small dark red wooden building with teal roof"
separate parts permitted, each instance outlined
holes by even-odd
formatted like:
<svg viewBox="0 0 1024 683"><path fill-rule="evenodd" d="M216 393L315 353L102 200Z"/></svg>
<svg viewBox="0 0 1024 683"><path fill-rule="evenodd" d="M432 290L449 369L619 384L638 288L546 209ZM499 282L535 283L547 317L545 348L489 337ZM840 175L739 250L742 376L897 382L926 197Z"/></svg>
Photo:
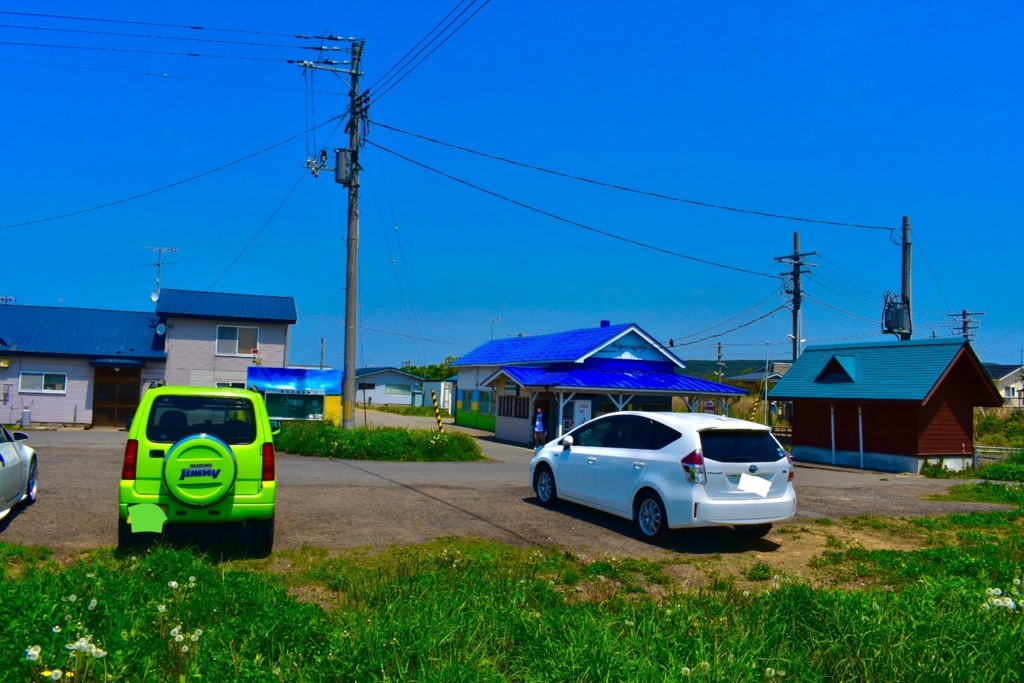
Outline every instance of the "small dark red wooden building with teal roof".
<svg viewBox="0 0 1024 683"><path fill-rule="evenodd" d="M970 465L974 409L1002 398L958 337L809 346L769 393L797 460L898 472Z"/></svg>

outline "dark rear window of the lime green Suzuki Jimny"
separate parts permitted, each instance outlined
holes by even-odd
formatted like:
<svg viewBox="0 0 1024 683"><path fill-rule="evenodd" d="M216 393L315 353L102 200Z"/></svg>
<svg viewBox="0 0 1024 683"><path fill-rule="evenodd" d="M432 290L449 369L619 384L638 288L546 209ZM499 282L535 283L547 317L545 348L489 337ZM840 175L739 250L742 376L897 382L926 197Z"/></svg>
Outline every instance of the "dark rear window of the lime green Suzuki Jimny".
<svg viewBox="0 0 1024 683"><path fill-rule="evenodd" d="M256 440L256 412L246 398L160 396L153 401L145 436L175 443L193 434L210 434L228 445Z"/></svg>

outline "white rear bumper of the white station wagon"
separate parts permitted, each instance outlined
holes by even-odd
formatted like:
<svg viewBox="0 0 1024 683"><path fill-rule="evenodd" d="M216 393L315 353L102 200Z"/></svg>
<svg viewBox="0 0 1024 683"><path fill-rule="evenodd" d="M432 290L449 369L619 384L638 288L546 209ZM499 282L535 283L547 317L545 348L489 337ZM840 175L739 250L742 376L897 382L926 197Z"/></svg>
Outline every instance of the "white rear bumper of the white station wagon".
<svg viewBox="0 0 1024 683"><path fill-rule="evenodd" d="M666 498L670 528L771 524L792 519L797 513L797 492L793 484L778 498L739 501L708 498L703 486L699 485L686 484L685 487L689 488L688 495Z"/></svg>

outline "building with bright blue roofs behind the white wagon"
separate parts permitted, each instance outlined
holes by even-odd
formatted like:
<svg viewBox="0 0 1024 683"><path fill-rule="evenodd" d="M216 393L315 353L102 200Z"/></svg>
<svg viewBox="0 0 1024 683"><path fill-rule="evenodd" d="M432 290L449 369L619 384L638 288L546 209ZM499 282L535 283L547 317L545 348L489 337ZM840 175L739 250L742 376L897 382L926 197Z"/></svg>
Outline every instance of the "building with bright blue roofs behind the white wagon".
<svg viewBox="0 0 1024 683"><path fill-rule="evenodd" d="M685 374L686 365L633 324L495 339L453 364L456 424L532 443L541 409L549 439L616 411L690 410L713 400L723 413L746 392Z"/></svg>

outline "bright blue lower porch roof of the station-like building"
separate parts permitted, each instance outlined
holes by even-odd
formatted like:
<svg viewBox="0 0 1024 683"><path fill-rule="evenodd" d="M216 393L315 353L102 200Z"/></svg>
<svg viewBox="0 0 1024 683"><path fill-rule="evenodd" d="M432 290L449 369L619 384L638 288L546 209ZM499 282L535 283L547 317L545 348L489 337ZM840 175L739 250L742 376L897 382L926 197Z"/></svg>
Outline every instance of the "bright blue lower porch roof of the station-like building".
<svg viewBox="0 0 1024 683"><path fill-rule="evenodd" d="M546 370L514 366L502 372L528 387L565 387L573 389L610 389L615 391L658 391L677 394L742 396L746 391L711 380L674 373L629 372L622 370Z"/></svg>

